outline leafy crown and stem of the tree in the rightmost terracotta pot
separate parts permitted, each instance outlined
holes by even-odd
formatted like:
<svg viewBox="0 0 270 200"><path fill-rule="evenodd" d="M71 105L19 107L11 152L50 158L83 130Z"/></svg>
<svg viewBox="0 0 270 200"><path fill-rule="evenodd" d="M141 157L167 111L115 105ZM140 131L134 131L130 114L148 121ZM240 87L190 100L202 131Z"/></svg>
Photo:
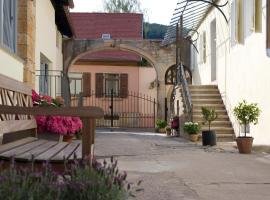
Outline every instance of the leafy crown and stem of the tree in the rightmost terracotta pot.
<svg viewBox="0 0 270 200"><path fill-rule="evenodd" d="M240 102L238 106L233 109L234 115L240 122L245 126L245 136L246 136L246 127L248 124L253 123L256 125L258 123L258 118L260 115L260 109L256 103L247 103L245 100Z"/></svg>

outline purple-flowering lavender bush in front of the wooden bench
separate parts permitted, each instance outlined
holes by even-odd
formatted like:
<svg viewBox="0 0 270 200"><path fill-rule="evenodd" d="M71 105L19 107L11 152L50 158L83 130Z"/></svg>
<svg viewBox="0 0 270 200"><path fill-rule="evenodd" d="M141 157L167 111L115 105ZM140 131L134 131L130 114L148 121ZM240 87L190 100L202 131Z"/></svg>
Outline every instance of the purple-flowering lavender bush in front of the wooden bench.
<svg viewBox="0 0 270 200"><path fill-rule="evenodd" d="M75 161L63 173L49 164L42 169L21 169L14 164L0 172L0 199L14 200L122 200L133 195L127 174L119 173L117 161Z"/></svg>

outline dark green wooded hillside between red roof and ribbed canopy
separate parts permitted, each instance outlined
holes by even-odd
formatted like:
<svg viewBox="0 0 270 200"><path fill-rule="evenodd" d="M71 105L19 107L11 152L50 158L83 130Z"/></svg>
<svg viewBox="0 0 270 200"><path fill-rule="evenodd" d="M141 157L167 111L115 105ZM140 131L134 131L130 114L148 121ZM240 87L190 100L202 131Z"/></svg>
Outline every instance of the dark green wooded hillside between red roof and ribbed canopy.
<svg viewBox="0 0 270 200"><path fill-rule="evenodd" d="M162 24L150 24L145 22L143 27L144 39L163 39L167 31L167 26Z"/></svg>

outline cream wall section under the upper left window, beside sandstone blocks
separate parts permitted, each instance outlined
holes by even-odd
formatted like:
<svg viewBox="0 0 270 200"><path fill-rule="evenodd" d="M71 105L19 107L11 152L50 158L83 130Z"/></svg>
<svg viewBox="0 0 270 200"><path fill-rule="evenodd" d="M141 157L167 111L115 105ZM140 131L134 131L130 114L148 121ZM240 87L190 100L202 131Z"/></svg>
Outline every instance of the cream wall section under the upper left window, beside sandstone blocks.
<svg viewBox="0 0 270 200"><path fill-rule="evenodd" d="M0 47L0 73L23 81L23 60Z"/></svg>

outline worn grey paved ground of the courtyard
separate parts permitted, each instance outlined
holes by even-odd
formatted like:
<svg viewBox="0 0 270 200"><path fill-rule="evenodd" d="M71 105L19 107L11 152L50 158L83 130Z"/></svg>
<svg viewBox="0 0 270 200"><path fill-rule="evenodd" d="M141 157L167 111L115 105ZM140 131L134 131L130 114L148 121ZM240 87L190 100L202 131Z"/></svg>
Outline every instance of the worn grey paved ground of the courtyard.
<svg viewBox="0 0 270 200"><path fill-rule="evenodd" d="M270 155L240 155L228 144L203 148L182 138L98 130L96 154L113 155L129 181L143 180L139 200L270 199Z"/></svg>

